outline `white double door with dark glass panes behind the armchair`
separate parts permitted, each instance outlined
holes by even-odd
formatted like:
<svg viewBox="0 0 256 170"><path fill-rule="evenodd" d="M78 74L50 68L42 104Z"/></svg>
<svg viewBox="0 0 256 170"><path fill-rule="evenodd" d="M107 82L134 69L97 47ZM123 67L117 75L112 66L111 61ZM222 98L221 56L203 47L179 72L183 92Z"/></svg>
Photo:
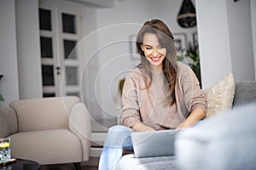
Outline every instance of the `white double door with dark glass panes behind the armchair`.
<svg viewBox="0 0 256 170"><path fill-rule="evenodd" d="M40 2L43 96L79 96L79 8Z"/></svg>

